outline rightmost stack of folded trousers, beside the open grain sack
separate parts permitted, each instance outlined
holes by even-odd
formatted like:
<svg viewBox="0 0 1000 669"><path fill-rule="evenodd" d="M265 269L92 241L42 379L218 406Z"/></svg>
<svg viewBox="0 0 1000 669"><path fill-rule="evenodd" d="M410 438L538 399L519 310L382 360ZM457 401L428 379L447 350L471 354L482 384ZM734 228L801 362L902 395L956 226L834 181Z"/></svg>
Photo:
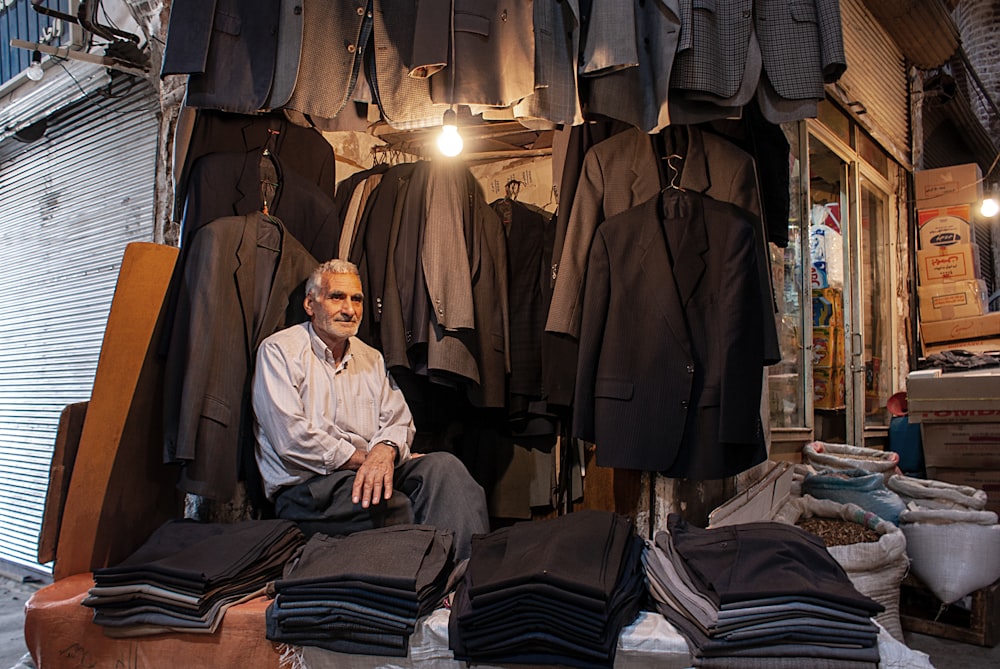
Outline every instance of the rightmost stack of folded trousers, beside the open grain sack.
<svg viewBox="0 0 1000 669"><path fill-rule="evenodd" d="M883 607L818 536L792 525L714 529L672 514L642 562L657 609L699 667L874 669Z"/></svg>

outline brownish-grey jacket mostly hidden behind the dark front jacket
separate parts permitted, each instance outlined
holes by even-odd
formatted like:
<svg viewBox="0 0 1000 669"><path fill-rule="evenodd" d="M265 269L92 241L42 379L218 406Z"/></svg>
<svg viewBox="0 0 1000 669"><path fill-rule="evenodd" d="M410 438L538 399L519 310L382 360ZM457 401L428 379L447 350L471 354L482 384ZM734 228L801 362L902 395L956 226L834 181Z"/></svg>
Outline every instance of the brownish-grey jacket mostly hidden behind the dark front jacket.
<svg viewBox="0 0 1000 669"><path fill-rule="evenodd" d="M702 133L688 126L688 147L683 159L682 189L701 193L722 202L730 202L760 215L757 178L753 159L720 137ZM569 220L557 221L556 248L562 252L549 305L545 329L580 337L583 305L583 282L587 271L587 253L594 233L606 218L645 202L660 190L650 136L637 128L625 130L594 145L584 158ZM760 225L758 221L758 226ZM560 244L560 240L562 240ZM771 314L761 321L765 357L770 362L781 359L778 331L773 317L771 277L763 230L757 235L755 285L760 293L758 304Z"/></svg>

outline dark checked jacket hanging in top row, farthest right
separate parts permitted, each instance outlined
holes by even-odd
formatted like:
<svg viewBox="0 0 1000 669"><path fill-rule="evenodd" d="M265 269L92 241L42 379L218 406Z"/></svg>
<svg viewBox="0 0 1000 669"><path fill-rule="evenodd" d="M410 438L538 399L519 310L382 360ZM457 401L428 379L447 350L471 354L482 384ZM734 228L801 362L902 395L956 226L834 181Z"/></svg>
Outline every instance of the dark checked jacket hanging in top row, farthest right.
<svg viewBox="0 0 1000 669"><path fill-rule="evenodd" d="M732 97L747 63L751 29L764 71L784 98L822 98L847 67L839 0L681 0L681 38L671 85Z"/></svg>

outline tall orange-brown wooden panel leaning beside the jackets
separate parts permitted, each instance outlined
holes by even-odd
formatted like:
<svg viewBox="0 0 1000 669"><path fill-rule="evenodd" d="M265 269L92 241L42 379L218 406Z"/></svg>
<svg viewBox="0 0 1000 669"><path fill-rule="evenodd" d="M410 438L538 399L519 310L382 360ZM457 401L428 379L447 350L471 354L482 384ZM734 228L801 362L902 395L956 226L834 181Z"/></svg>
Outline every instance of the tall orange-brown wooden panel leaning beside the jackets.
<svg viewBox="0 0 1000 669"><path fill-rule="evenodd" d="M66 496L57 579L120 562L182 515L177 471L163 464L163 363L155 345L177 253L145 242L125 249Z"/></svg>

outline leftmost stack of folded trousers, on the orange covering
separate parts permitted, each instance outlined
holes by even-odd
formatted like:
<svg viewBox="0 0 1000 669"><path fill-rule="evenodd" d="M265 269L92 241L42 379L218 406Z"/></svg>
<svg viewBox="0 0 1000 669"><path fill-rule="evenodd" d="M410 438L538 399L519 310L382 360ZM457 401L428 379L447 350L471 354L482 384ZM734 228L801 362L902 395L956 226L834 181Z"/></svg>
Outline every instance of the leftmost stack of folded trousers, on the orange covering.
<svg viewBox="0 0 1000 669"><path fill-rule="evenodd" d="M264 594L303 543L287 520L171 520L121 564L95 570L83 604L107 636L211 633L229 606Z"/></svg>

